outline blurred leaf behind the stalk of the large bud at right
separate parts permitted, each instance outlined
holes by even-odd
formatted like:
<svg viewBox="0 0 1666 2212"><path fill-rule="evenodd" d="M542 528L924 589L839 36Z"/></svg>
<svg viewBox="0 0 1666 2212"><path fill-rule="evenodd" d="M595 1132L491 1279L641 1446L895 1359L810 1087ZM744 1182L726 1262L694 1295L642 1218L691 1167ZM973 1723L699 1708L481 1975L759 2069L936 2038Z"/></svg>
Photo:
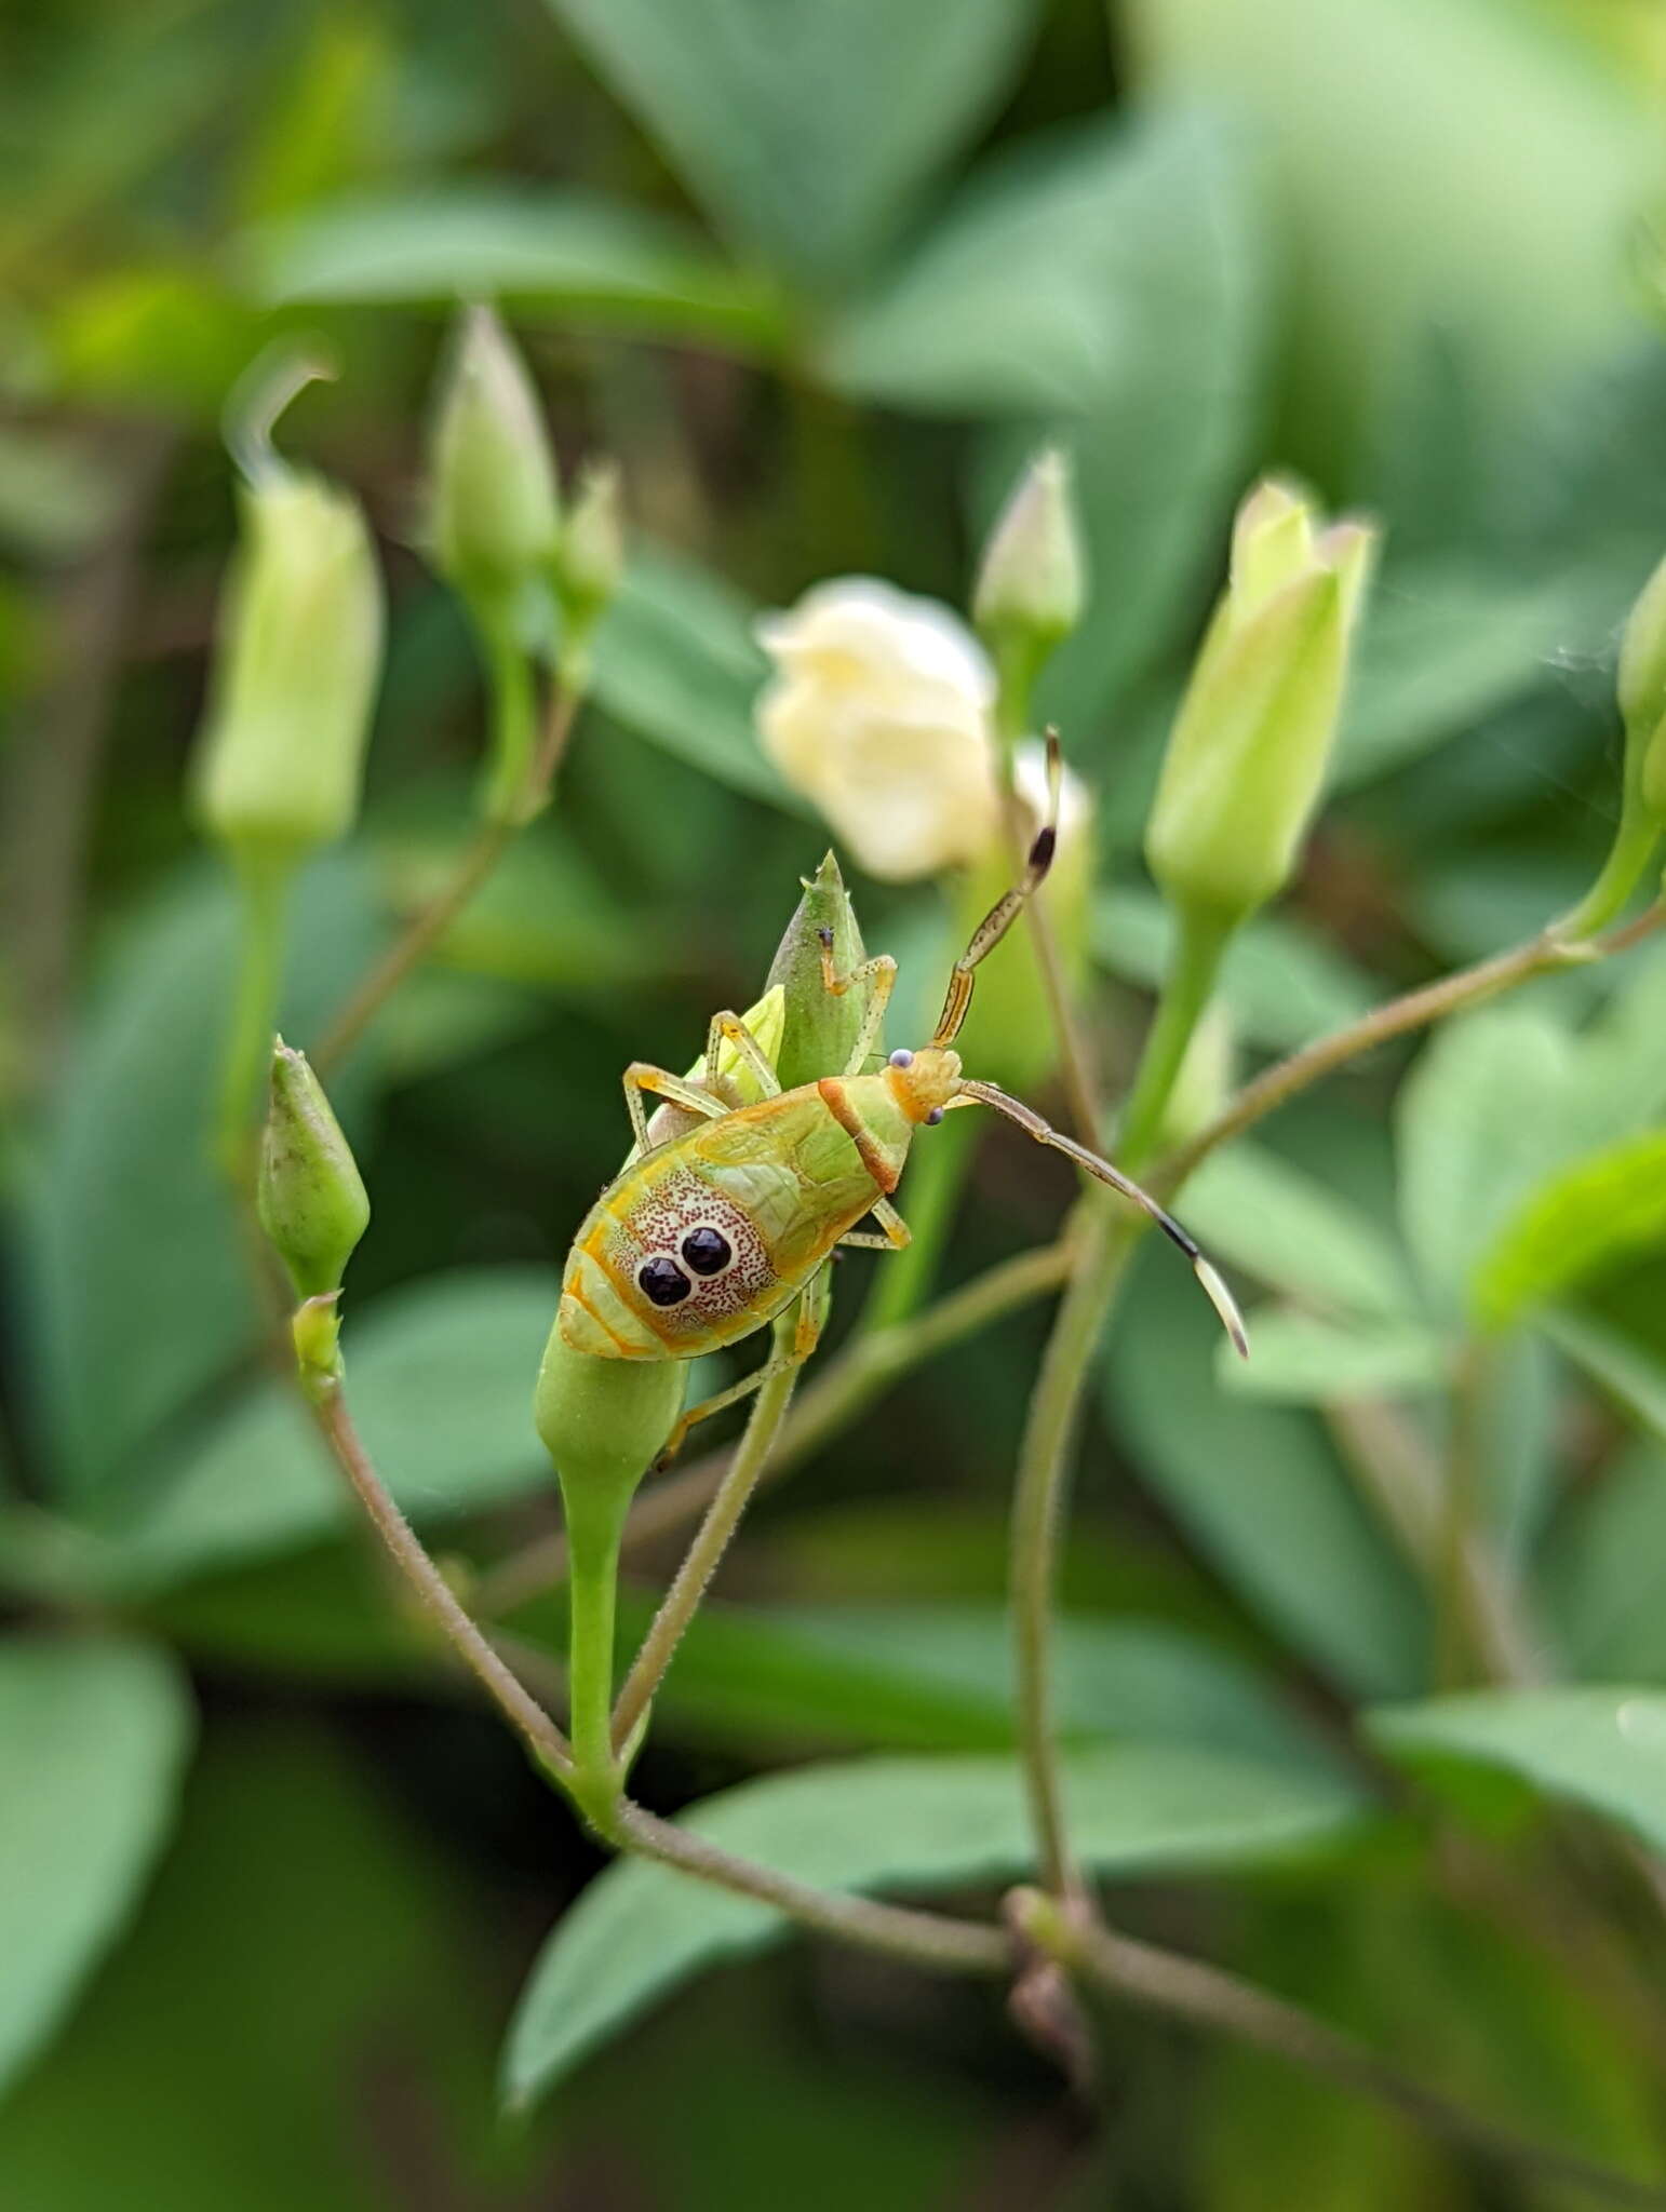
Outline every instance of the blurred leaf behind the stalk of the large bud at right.
<svg viewBox="0 0 1666 2212"><path fill-rule="evenodd" d="M1155 891L1117 885L1100 894L1093 951L1113 975L1155 989L1168 971L1173 942L1173 916ZM1290 914L1257 916L1235 933L1219 991L1235 1035L1274 1053L1312 1044L1378 998L1363 969Z"/></svg>

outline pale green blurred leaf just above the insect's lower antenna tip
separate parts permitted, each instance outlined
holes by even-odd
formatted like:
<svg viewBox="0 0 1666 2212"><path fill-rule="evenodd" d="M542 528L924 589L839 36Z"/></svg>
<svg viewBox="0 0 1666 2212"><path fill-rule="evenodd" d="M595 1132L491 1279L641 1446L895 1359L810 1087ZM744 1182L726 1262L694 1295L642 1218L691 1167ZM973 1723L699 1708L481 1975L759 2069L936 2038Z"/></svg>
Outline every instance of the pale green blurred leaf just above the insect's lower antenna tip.
<svg viewBox="0 0 1666 2212"><path fill-rule="evenodd" d="M1186 1183L1184 1214L1217 1259L1303 1303L1383 1321L1416 1312L1398 1243L1261 1144L1239 1139L1210 1152Z"/></svg>

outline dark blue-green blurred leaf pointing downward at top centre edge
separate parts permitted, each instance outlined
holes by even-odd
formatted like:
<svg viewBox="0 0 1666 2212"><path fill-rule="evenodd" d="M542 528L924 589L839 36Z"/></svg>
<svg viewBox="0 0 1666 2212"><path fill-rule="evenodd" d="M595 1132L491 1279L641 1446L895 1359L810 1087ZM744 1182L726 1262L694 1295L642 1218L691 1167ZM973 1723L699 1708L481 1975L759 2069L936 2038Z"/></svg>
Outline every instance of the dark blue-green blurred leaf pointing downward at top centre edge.
<svg viewBox="0 0 1666 2212"><path fill-rule="evenodd" d="M551 0L741 248L841 290L1011 82L1029 0Z"/></svg>

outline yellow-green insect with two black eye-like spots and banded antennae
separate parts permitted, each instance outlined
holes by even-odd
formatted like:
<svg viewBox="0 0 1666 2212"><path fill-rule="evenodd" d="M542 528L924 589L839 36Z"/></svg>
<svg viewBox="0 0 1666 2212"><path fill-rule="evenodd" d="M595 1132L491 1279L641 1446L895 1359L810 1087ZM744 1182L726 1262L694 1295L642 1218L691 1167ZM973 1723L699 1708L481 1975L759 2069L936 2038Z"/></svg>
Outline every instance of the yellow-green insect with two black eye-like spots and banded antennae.
<svg viewBox="0 0 1666 2212"><path fill-rule="evenodd" d="M978 962L1007 936L1053 858L1060 785L1055 741L1049 741L1049 821L1029 849L1020 883L996 900L956 960L929 1044L896 1051L885 1066L863 1073L885 1018L896 962L881 953L852 973L836 975L832 931L823 931L821 967L827 989L843 993L858 982L872 984L861 1035L841 1075L781 1091L768 1057L735 1013L712 1018L706 1066L717 1068L719 1051L728 1044L757 1077L763 1093L757 1104L726 1104L712 1088L648 1062L637 1060L624 1071L637 1157L608 1183L573 1239L558 1323L575 1352L615 1360L688 1360L717 1352L785 1312L836 1245L903 1250L909 1232L892 1206L892 1192L914 1133L934 1128L956 1108L989 1106L1144 1208L1193 1263L1232 1343L1248 1354L1232 1294L1173 1214L1108 1159L1060 1135L993 1084L960 1073L954 1040L971 1006ZM701 1121L650 1148L644 1095L686 1106ZM865 1217L878 1228L858 1228ZM781 1365L805 1358L814 1345L814 1321L808 1318L814 1303L805 1301L801 1307L792 1349L686 1413L668 1449L681 1442L695 1420L757 1389Z"/></svg>

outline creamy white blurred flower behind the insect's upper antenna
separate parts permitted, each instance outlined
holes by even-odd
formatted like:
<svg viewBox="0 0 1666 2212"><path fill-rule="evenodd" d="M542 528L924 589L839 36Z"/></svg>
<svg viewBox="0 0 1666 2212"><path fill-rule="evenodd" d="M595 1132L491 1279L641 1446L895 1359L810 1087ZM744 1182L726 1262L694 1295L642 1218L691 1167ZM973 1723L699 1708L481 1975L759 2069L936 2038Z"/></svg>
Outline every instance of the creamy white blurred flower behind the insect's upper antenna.
<svg viewBox="0 0 1666 2212"><path fill-rule="evenodd" d="M757 703L763 748L870 876L934 876L989 852L996 675L947 606L836 577L766 617L759 641L777 668Z"/></svg>

